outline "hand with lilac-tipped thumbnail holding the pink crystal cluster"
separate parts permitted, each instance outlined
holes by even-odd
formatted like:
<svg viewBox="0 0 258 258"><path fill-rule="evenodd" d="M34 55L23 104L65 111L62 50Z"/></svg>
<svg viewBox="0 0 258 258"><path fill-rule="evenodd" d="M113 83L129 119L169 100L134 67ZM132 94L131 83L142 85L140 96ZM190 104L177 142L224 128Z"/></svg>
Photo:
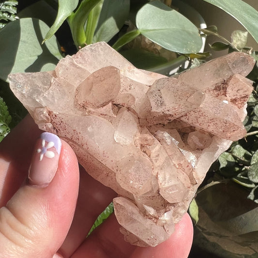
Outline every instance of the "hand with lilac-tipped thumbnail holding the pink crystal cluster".
<svg viewBox="0 0 258 258"><path fill-rule="evenodd" d="M41 133L28 116L0 143L0 257L187 258L193 238L188 214L156 247L126 243L114 214L86 239L117 194L79 171L66 142L59 149L53 138L54 148L46 146L49 136L42 142Z"/></svg>

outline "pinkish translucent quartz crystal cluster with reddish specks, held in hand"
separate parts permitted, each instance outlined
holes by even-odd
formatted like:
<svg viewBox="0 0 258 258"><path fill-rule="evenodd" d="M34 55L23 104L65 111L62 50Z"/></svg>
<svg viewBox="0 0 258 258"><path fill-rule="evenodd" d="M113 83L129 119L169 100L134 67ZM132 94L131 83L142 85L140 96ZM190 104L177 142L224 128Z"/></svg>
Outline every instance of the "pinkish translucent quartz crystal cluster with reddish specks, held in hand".
<svg viewBox="0 0 258 258"><path fill-rule="evenodd" d="M106 43L51 72L12 74L39 128L57 134L96 180L118 193L125 240L155 246L172 234L212 162L244 137L254 59L244 53L177 77L139 70Z"/></svg>

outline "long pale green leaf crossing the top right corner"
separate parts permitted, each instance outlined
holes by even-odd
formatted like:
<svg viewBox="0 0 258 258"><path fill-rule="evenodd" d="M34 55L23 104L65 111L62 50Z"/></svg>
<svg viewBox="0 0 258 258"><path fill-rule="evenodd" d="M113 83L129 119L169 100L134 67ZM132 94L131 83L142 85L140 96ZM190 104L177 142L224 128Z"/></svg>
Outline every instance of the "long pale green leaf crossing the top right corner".
<svg viewBox="0 0 258 258"><path fill-rule="evenodd" d="M242 0L204 0L238 20L258 43L258 12Z"/></svg>

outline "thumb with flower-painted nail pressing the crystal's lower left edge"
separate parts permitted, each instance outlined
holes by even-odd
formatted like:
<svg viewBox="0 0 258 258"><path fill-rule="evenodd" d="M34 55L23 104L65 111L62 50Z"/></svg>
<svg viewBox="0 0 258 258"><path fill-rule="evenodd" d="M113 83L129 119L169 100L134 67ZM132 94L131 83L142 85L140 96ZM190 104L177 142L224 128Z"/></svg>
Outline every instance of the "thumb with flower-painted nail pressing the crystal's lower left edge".
<svg viewBox="0 0 258 258"><path fill-rule="evenodd" d="M72 223L78 185L78 163L71 147L43 133L28 180L0 209L0 257L52 258Z"/></svg>

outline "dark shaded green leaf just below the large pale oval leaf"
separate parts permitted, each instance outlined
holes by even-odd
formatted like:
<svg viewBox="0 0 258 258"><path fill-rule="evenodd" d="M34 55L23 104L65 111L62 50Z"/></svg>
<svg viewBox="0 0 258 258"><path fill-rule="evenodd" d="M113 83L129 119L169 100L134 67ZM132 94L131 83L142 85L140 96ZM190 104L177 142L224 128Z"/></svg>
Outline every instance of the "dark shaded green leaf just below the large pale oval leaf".
<svg viewBox="0 0 258 258"><path fill-rule="evenodd" d="M121 55L137 68L145 70L167 62L167 59L164 57L139 49L124 50L121 51Z"/></svg>

